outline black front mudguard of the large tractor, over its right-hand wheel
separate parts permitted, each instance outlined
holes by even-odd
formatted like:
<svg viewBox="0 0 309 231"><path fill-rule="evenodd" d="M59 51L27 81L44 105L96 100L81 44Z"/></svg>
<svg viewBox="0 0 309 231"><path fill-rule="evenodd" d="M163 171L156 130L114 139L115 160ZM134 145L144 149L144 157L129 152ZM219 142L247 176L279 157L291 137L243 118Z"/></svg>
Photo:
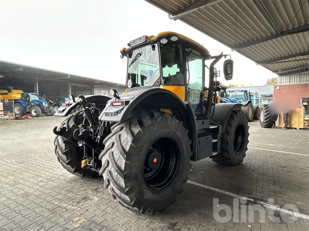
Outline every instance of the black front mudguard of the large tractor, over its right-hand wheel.
<svg viewBox="0 0 309 231"><path fill-rule="evenodd" d="M221 133L225 131L226 123L234 109L241 110L241 103L218 103L216 104L214 115L210 116L210 120L214 124L221 125ZM213 109L213 108L212 108Z"/></svg>

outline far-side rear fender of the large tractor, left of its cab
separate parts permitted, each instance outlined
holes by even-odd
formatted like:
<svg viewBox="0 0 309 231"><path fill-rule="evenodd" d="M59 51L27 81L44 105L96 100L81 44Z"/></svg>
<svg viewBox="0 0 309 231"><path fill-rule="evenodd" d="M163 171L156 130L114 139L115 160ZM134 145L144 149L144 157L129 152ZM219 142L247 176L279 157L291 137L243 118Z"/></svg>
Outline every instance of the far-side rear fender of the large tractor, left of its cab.
<svg viewBox="0 0 309 231"><path fill-rule="evenodd" d="M54 115L56 116L67 116L70 114L70 112L77 106L76 104L78 102L78 97L75 97L75 102L73 102L73 100L70 99L70 101L68 103L70 103L69 106L61 106L58 108L58 110L56 111L56 113ZM85 95L85 99L88 102L91 103L95 103L95 105L106 105L106 102L108 100L110 100L111 98L107 97L107 96L103 96L103 95Z"/></svg>

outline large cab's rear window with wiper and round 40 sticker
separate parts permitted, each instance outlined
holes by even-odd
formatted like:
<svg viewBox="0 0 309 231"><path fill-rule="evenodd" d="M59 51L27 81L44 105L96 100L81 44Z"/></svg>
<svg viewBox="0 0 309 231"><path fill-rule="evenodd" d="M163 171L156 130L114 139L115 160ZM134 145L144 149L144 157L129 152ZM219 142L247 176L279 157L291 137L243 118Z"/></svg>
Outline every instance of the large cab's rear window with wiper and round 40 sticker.
<svg viewBox="0 0 309 231"><path fill-rule="evenodd" d="M159 52L151 45L136 49L128 59L128 88L149 87L159 78Z"/></svg>

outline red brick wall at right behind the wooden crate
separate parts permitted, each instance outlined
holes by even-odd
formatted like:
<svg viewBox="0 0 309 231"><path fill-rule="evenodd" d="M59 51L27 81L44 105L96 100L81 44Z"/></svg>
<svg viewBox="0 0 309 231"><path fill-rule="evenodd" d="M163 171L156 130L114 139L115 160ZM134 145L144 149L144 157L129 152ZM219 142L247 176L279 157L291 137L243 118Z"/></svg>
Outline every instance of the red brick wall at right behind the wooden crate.
<svg viewBox="0 0 309 231"><path fill-rule="evenodd" d="M278 90L277 86L279 86ZM284 96L289 96L291 100L300 104L300 98L309 97L309 83L274 85L273 100L276 102Z"/></svg>

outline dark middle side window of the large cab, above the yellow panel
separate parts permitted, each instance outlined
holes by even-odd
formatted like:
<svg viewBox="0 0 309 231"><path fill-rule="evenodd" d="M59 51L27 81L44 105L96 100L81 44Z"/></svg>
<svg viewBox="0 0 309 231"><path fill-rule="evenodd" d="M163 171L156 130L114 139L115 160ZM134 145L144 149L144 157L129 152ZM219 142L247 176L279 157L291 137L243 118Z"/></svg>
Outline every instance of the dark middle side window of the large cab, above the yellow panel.
<svg viewBox="0 0 309 231"><path fill-rule="evenodd" d="M180 44L160 45L163 85L184 85L182 47Z"/></svg>

